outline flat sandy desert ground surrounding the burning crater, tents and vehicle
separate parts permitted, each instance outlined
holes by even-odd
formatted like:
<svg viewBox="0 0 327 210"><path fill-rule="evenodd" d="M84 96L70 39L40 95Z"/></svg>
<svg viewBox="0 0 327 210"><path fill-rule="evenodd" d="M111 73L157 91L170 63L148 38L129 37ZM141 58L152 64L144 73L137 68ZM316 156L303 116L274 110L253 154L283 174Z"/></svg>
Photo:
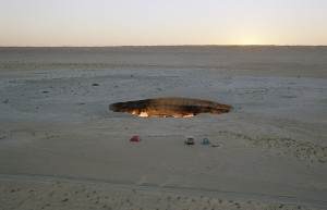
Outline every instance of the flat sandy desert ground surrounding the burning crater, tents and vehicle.
<svg viewBox="0 0 327 210"><path fill-rule="evenodd" d="M325 47L0 48L0 209L327 209L325 58ZM234 109L108 110L158 97Z"/></svg>

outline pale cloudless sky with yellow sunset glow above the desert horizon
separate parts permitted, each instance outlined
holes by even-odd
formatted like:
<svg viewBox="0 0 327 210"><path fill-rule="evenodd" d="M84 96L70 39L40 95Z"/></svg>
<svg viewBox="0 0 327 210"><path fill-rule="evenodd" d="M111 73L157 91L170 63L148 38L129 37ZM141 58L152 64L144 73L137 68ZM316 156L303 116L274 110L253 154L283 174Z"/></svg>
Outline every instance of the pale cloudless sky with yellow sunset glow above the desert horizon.
<svg viewBox="0 0 327 210"><path fill-rule="evenodd" d="M0 46L327 45L327 0L0 0Z"/></svg>

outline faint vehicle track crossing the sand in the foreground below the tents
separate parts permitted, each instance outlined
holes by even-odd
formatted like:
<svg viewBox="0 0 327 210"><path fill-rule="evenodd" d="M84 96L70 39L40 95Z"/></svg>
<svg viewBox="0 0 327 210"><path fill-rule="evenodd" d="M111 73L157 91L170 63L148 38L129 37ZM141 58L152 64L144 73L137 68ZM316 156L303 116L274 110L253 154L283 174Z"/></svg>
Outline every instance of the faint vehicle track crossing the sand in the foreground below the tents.
<svg viewBox="0 0 327 210"><path fill-rule="evenodd" d="M207 196L207 197L218 197L226 199L235 199L243 201L256 201L265 203L283 203L291 206L306 206L316 209L327 209L327 201L325 200L314 200L314 199L303 199L298 197L289 196L278 196L278 195L266 195L266 194L252 194L242 192L227 192L219 189L204 189L204 188L187 188L187 187L172 187L172 186L157 186L148 184L129 184L129 183L116 183L105 180L97 178L75 178L75 177L58 177L58 176L46 176L37 174L0 174L0 181L17 181L27 183L58 183L68 185L87 185L87 186L98 186L101 188L117 188L117 189L130 189L140 190L147 193L164 193L183 196Z"/></svg>

